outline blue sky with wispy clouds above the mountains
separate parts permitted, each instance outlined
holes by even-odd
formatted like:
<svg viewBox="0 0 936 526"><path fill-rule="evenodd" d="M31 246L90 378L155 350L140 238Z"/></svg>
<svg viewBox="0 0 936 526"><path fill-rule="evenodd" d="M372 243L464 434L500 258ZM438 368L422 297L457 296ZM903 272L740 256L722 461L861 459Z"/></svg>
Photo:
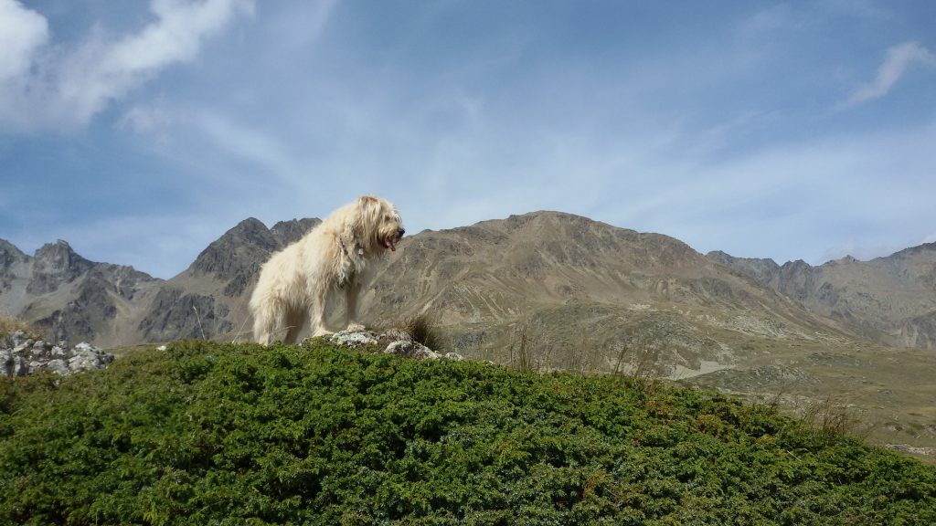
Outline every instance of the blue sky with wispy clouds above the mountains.
<svg viewBox="0 0 936 526"><path fill-rule="evenodd" d="M936 2L0 0L0 238L169 278L247 217L936 241Z"/></svg>

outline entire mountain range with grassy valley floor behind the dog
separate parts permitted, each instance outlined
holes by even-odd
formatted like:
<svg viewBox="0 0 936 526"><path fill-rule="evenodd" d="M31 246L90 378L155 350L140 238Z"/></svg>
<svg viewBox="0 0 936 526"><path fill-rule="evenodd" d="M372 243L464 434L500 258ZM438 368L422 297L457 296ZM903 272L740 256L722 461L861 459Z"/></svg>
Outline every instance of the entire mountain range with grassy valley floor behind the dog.
<svg viewBox="0 0 936 526"><path fill-rule="evenodd" d="M246 219L169 280L89 261L65 241L35 256L0 241L0 313L50 339L107 348L247 341L257 270L318 222ZM931 447L934 253L929 244L870 262L781 266L532 212L405 238L361 314L372 326L427 314L446 350L520 368L662 375L800 412L837 403L875 423L878 442Z"/></svg>

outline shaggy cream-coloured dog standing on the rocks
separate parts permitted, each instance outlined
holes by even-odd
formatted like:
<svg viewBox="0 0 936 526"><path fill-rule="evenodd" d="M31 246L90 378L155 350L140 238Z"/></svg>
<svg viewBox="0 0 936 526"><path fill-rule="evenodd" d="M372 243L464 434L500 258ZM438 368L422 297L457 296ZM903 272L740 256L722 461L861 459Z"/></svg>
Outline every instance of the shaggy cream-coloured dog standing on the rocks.
<svg viewBox="0 0 936 526"><path fill-rule="evenodd" d="M306 320L312 335L329 334L329 294L344 289L348 329L358 323L358 297L373 278L376 260L403 235L400 212L386 199L364 196L331 212L300 241L271 256L260 269L250 310L254 338L265 345L295 343Z"/></svg>

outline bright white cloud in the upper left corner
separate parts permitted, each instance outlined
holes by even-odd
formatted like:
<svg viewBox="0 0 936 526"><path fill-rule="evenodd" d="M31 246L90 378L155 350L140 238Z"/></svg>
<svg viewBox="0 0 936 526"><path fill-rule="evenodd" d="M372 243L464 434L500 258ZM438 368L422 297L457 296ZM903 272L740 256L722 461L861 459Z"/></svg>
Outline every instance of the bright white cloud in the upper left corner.
<svg viewBox="0 0 936 526"><path fill-rule="evenodd" d="M138 33L112 37L97 29L68 49L47 45L42 15L0 0L0 124L87 124L166 67L194 60L206 38L252 14L254 0L153 0L150 8L155 20ZM17 29L7 35L10 27Z"/></svg>

